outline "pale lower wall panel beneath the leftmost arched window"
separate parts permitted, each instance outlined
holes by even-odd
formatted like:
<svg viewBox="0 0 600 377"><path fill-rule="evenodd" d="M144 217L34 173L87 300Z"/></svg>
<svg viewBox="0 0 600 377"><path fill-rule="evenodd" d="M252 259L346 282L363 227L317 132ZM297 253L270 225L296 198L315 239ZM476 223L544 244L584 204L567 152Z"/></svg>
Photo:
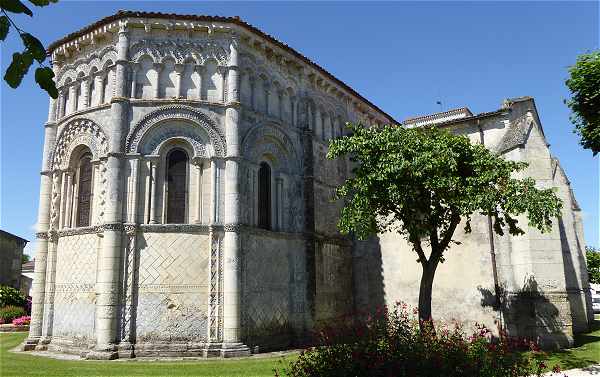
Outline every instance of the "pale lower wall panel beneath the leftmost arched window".
<svg viewBox="0 0 600 377"><path fill-rule="evenodd" d="M96 261L100 240L95 233L58 239L53 336L82 347L94 343Z"/></svg>

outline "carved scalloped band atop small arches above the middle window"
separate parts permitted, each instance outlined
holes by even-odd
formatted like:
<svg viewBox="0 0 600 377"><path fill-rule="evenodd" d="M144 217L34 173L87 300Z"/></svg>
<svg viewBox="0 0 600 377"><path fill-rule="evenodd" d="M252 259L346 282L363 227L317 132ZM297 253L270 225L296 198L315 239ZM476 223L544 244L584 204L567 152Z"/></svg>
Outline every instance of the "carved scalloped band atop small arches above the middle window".
<svg viewBox="0 0 600 377"><path fill-rule="evenodd" d="M142 39L129 49L131 60L138 62L143 56L149 56L155 63L172 58L175 63L183 64L193 61L203 64L208 59L225 65L229 59L229 40L203 39L194 41Z"/></svg>

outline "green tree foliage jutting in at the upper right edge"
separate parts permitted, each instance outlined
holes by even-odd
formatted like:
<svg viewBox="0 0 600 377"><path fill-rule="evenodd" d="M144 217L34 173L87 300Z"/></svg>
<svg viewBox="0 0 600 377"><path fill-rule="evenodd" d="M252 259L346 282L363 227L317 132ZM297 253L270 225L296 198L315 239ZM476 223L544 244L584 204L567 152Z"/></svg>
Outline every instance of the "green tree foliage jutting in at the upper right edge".
<svg viewBox="0 0 600 377"><path fill-rule="evenodd" d="M595 156L600 151L600 51L579 56L569 74L571 121L580 144Z"/></svg>

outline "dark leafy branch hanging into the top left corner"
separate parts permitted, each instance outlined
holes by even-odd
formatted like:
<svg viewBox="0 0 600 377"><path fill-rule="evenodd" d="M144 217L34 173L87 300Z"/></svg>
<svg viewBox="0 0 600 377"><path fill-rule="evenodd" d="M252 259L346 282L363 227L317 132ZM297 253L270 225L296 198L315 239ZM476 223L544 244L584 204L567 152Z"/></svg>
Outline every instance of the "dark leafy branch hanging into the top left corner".
<svg viewBox="0 0 600 377"><path fill-rule="evenodd" d="M43 7L50 3L56 3L58 0L29 0L33 5ZM17 31L23 42L23 52L15 52L12 56L12 62L6 69L4 81L11 87L17 88L21 85L23 77L29 72L29 68L34 61L37 61L39 67L35 70L35 81L52 98L58 97L58 90L54 83L54 72L52 68L44 66L46 61L46 49L42 42L33 35L20 29L9 16L9 13L26 14L33 17L33 12L20 0L0 0L0 41L4 41L10 31L11 26Z"/></svg>

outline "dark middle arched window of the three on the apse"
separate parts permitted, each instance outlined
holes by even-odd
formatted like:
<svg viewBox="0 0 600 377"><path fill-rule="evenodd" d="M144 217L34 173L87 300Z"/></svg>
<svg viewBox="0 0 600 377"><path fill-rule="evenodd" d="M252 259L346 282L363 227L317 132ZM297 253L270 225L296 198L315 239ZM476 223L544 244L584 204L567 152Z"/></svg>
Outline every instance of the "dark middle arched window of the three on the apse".
<svg viewBox="0 0 600 377"><path fill-rule="evenodd" d="M167 223L183 224L187 196L188 156L181 149L173 149L167 156Z"/></svg>

